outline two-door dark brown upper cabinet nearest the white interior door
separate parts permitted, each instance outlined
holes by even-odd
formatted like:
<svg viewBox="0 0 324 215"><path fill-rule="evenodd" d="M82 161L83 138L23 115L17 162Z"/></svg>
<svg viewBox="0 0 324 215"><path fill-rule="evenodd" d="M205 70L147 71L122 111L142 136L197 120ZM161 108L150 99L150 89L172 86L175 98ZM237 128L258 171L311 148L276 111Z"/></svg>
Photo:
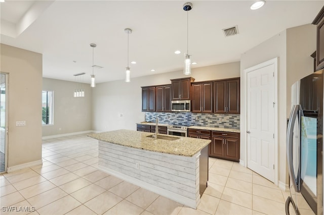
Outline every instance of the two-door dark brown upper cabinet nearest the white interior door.
<svg viewBox="0 0 324 215"><path fill-rule="evenodd" d="M239 114L239 78L214 82L214 113Z"/></svg>

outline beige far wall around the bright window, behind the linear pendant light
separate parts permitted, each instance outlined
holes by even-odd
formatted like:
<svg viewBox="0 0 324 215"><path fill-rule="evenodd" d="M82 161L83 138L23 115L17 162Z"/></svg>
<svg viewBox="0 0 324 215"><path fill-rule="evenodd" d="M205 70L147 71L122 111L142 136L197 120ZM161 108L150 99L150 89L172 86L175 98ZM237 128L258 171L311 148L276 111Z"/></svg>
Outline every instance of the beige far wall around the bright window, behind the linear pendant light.
<svg viewBox="0 0 324 215"><path fill-rule="evenodd" d="M85 97L73 97L80 86ZM90 84L43 78L43 90L54 91L54 124L43 126L43 137L92 130Z"/></svg>

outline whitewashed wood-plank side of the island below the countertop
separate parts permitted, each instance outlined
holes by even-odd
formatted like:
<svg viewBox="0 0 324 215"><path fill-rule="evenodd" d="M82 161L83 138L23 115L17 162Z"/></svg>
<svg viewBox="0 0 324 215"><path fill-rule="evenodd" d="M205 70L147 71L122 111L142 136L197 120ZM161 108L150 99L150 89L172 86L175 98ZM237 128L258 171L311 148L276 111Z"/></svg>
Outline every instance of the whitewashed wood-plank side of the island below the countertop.
<svg viewBox="0 0 324 215"><path fill-rule="evenodd" d="M99 168L192 208L200 200L199 153L186 157L99 141Z"/></svg>

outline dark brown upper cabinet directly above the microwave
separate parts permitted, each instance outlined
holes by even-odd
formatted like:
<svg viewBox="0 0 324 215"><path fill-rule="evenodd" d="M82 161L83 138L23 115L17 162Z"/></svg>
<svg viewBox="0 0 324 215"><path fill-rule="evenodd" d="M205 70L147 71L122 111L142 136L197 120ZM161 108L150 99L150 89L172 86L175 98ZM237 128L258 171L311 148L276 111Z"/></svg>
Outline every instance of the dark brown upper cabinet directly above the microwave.
<svg viewBox="0 0 324 215"><path fill-rule="evenodd" d="M194 78L180 78L171 80L171 100L190 100L191 99L191 82Z"/></svg>

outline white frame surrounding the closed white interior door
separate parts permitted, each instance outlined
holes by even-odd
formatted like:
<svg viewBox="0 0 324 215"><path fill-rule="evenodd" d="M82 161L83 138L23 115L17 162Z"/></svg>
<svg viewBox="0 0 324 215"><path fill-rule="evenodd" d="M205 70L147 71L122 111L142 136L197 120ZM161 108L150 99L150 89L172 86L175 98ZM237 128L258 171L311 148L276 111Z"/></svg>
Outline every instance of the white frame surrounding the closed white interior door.
<svg viewBox="0 0 324 215"><path fill-rule="evenodd" d="M244 140L244 166L248 166L248 110L247 110L247 99L248 99L248 73L257 69L261 69L266 66L274 65L274 184L278 186L278 58L273 58L266 62L252 66L243 70L243 97L244 97L244 129L241 130L241 138Z"/></svg>

